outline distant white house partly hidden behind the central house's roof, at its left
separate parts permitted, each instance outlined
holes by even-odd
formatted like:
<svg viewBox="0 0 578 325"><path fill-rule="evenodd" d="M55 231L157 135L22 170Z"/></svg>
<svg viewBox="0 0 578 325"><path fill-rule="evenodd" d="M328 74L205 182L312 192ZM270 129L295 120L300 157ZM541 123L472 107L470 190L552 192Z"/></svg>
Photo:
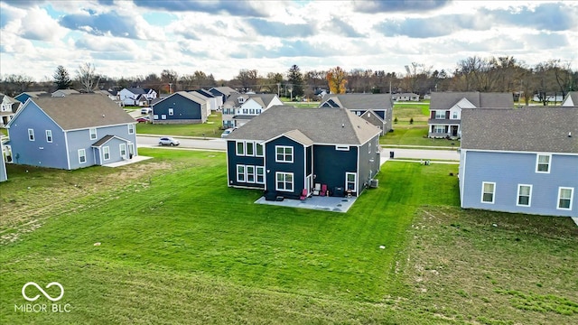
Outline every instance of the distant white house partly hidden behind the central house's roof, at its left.
<svg viewBox="0 0 578 325"><path fill-rule="evenodd" d="M232 94L223 104L222 125L225 128L245 125L269 107L283 105L276 94Z"/></svg>

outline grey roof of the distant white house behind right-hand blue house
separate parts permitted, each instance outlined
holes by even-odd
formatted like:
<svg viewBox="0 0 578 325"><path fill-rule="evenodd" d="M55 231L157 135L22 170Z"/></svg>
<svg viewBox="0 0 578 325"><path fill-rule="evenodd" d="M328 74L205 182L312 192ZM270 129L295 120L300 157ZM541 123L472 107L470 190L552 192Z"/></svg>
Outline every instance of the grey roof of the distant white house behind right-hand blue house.
<svg viewBox="0 0 578 325"><path fill-rule="evenodd" d="M511 93L471 91L433 92L430 100L430 110L450 109L462 98L466 98L473 106L478 108L514 108L514 97Z"/></svg>

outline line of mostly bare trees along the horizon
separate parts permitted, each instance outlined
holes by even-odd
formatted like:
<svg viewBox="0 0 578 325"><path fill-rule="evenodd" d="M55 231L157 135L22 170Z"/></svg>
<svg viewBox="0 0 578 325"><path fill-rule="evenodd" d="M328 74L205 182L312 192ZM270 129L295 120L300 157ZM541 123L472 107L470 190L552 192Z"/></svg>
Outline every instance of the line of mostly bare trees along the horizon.
<svg viewBox="0 0 578 325"><path fill-rule="evenodd" d="M478 56L460 60L455 70L433 70L423 63L411 62L406 73L385 70L353 69L340 67L331 70L302 71L293 65L284 73L269 72L266 76L257 70L240 69L234 79L215 79L212 74L196 70L180 74L165 69L160 74L110 78L98 74L91 63L84 63L74 76L63 67L55 68L52 79L35 81L26 75L0 77L0 92L16 96L24 91L52 92L61 88L75 88L91 92L98 89L153 88L159 94L180 90L194 90L228 86L239 92L278 94L286 98L314 98L321 90L332 93L415 93L420 96L434 91L511 92L528 103L539 98L545 105L547 98L578 90L578 71L571 62L545 60L528 66L514 57Z"/></svg>

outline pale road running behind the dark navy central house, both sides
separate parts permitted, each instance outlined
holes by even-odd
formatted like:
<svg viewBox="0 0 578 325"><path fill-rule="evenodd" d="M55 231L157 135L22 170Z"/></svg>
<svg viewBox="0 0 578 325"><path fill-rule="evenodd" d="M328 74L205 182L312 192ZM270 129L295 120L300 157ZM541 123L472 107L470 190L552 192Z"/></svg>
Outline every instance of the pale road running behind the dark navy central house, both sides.
<svg viewBox="0 0 578 325"><path fill-rule="evenodd" d="M203 150L220 150L225 151L226 142L224 139L220 138L207 138L203 139L191 139L191 138L181 138L179 139L181 144L175 148L187 148L187 149L203 149ZM159 136L157 135L137 135L136 143L138 147L158 147L159 146ZM448 160L448 161L459 161L460 154L455 150L427 150L427 149L401 149L401 148L384 148L382 149L382 154L389 157L389 153L394 152L395 158L400 159L433 159L433 160Z"/></svg>

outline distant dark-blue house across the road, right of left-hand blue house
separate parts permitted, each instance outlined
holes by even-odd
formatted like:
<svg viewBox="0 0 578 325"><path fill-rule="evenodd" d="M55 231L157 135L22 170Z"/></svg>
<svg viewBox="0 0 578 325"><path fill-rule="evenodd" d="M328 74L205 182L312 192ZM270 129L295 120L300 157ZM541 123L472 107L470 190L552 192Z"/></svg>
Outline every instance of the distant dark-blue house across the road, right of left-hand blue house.
<svg viewBox="0 0 578 325"><path fill-rule="evenodd" d="M207 104L186 91L178 91L153 104L154 124L194 124L207 122Z"/></svg>

